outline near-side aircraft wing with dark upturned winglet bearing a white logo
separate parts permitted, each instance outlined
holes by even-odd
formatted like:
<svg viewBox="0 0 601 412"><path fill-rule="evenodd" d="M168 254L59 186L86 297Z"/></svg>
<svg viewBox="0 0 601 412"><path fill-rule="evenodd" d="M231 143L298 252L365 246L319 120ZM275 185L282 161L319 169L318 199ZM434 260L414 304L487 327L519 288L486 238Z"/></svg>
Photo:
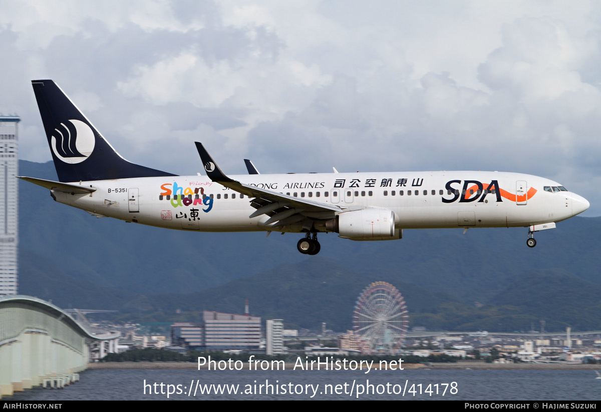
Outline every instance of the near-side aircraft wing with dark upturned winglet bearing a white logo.
<svg viewBox="0 0 601 412"><path fill-rule="evenodd" d="M215 160L213 160L201 143L195 143L209 178L235 192L253 198L251 206L257 210L249 217L260 216L261 214L270 216L270 219L263 223L264 225L272 225L272 223L278 222L276 225L273 225L275 228L304 219L332 219L338 212L343 210L337 205L316 202L305 198L296 198L233 180L219 169Z"/></svg>

